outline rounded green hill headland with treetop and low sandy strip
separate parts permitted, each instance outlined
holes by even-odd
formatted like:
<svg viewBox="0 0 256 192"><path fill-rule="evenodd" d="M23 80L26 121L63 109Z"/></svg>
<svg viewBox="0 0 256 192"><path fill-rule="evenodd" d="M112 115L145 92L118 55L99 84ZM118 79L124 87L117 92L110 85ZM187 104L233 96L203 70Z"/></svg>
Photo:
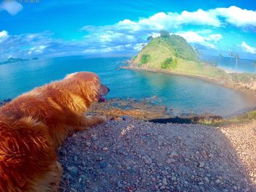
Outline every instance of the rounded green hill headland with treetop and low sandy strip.
<svg viewBox="0 0 256 192"><path fill-rule="evenodd" d="M216 64L201 61L198 53L183 37L160 31L160 37L148 37L148 44L128 61L125 69L165 72L218 82L229 88L256 91L256 75L226 73Z"/></svg>

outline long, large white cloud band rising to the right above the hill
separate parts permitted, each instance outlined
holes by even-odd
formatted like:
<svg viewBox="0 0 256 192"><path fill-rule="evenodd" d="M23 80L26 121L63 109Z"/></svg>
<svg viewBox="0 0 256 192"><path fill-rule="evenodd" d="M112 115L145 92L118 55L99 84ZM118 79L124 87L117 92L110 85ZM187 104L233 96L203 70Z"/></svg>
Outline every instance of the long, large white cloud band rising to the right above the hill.
<svg viewBox="0 0 256 192"><path fill-rule="evenodd" d="M231 24L237 27L253 28L256 27L256 11L241 9L236 6L216 9L197 9L195 12L184 10L178 12L158 12L148 18L140 18L139 20L121 20L112 26L84 26L82 30L89 32L105 32L115 31L121 34L130 35L150 35L157 33L162 29L167 31L175 31L183 26L208 26L208 27L224 27ZM211 29L201 31L208 33Z"/></svg>

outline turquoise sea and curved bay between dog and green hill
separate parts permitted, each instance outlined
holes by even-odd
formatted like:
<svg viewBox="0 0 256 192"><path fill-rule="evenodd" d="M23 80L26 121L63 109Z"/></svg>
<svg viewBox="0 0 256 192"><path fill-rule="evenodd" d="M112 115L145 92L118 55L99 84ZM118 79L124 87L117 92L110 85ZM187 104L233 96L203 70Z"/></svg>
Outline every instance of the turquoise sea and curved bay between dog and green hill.
<svg viewBox="0 0 256 192"><path fill-rule="evenodd" d="M82 56L50 58L0 65L0 99L21 93L66 74L96 72L108 85L108 98L144 99L158 96L174 115L181 113L232 115L252 107L255 101L236 91L213 83L170 74L155 74L118 69L128 58L86 58Z"/></svg>

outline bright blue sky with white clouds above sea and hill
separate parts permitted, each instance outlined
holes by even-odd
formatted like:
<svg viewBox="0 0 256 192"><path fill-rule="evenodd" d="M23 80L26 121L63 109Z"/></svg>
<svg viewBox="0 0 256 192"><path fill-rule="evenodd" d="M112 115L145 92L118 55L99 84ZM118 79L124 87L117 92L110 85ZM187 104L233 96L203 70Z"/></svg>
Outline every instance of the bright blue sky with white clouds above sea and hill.
<svg viewBox="0 0 256 192"><path fill-rule="evenodd" d="M66 55L135 55L159 31L204 55L256 59L253 0L4 0L0 61Z"/></svg>

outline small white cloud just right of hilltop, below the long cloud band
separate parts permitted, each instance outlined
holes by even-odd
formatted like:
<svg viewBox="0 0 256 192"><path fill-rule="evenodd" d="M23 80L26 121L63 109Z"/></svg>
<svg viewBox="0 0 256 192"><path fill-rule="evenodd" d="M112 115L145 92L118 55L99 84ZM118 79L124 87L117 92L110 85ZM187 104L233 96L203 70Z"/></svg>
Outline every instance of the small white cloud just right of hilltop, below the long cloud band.
<svg viewBox="0 0 256 192"><path fill-rule="evenodd" d="M184 39L187 40L187 42L191 44L199 44L206 47L211 47L213 49L216 49L216 46L214 45L214 43L217 43L219 42L220 39L222 39L221 34L211 34L211 35L208 35L207 37L203 37L194 31L179 32L176 34L183 37Z"/></svg>

